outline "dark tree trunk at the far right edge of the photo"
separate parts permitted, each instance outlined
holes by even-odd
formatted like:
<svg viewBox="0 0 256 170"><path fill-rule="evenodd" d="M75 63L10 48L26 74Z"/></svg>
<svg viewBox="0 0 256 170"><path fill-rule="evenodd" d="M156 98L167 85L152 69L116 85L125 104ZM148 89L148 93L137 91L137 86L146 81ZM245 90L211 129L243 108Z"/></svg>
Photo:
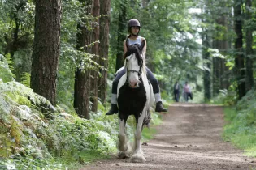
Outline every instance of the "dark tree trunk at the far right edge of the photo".
<svg viewBox="0 0 256 170"><path fill-rule="evenodd" d="M245 67L246 67L246 76L245 76L245 91L249 91L252 87L254 87L254 71L253 71L253 66L254 66L254 60L251 59L252 55L254 54L253 52L253 26L249 25L249 22L252 19L251 16L251 11L252 11L252 0L246 0L246 25L245 25L245 33L246 33L246 62L245 62Z"/></svg>

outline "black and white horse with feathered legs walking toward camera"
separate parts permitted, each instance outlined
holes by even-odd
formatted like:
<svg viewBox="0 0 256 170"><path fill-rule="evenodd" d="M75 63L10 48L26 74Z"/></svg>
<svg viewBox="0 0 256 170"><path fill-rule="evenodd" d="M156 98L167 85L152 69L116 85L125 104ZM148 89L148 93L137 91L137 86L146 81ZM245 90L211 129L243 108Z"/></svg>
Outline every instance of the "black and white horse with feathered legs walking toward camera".
<svg viewBox="0 0 256 170"><path fill-rule="evenodd" d="M141 132L143 126L150 121L150 107L154 104L153 88L148 82L145 70L145 57L142 49L145 42L140 45L130 45L125 54L126 74L118 84L119 107L119 158L130 157L131 162L145 162L141 150ZM126 135L125 124L130 115L136 119L136 131L131 147Z"/></svg>

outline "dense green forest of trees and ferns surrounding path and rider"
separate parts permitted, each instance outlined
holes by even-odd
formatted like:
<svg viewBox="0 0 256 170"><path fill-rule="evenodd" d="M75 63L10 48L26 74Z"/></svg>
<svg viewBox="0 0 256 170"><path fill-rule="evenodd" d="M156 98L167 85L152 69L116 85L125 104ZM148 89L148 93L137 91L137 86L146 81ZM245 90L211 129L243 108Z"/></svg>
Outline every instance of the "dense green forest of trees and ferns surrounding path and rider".
<svg viewBox="0 0 256 170"><path fill-rule="evenodd" d="M165 104L174 83L188 81L193 102L233 106L232 133L243 125L254 134L255 7L252 0L0 0L0 166L61 169L115 150L117 122L104 114L132 18L141 22Z"/></svg>

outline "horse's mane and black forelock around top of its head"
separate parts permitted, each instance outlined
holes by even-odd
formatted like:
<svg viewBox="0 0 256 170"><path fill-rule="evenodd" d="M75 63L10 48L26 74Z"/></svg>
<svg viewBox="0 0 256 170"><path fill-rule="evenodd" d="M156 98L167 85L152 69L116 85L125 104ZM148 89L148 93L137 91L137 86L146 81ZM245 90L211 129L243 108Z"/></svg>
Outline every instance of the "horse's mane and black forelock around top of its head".
<svg viewBox="0 0 256 170"><path fill-rule="evenodd" d="M141 66L141 62L142 62L142 72L146 73L145 72L145 57L143 57L143 53L142 53L142 49L140 48L140 45L138 45L138 44L129 45L127 52L124 54L124 59L126 57L132 55L132 53L135 53L135 56L137 58L139 66Z"/></svg>

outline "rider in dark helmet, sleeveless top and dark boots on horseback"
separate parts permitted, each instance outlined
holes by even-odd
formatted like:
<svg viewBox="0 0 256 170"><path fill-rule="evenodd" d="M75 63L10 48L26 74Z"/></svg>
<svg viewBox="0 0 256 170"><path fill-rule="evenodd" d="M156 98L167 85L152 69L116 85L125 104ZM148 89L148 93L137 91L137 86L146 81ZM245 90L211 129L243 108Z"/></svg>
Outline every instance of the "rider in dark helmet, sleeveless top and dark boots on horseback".
<svg viewBox="0 0 256 170"><path fill-rule="evenodd" d="M126 40L124 40L124 54L127 52L127 48L129 45L138 44L141 45L142 41L145 41L144 37L138 36L141 29L141 23L137 19L130 19L128 21L128 32L130 33ZM146 41L145 46L142 49L142 55L145 57L146 51ZM155 79L154 74L150 71L150 69L146 68L147 78L150 80L150 83L153 86L154 98L156 102L155 112L167 112L166 108L163 108L160 88L158 85L158 80ZM111 94L111 109L106 113L106 115L112 115L118 113L117 107L117 86L119 83L119 79L126 73L126 70L121 69L119 73L115 76L115 80L112 83L112 94Z"/></svg>

